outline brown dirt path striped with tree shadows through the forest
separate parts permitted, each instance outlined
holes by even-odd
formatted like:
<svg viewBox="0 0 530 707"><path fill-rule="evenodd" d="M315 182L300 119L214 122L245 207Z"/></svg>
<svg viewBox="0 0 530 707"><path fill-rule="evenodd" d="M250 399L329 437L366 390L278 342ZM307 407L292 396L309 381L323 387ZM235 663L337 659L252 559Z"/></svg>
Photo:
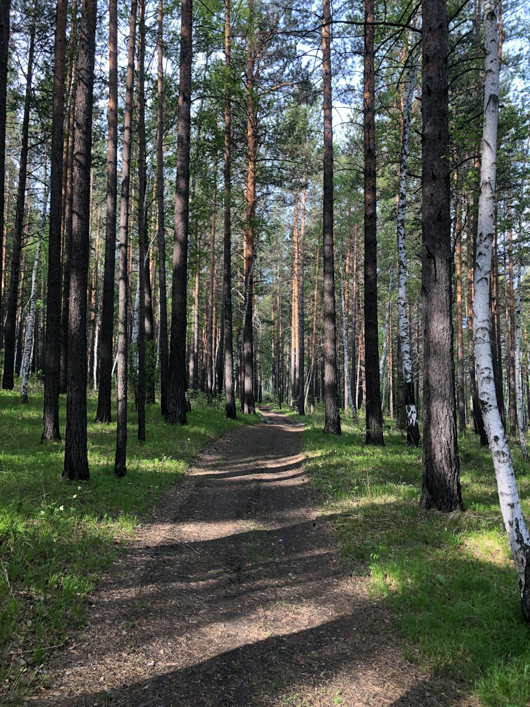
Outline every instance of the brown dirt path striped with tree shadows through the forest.
<svg viewBox="0 0 530 707"><path fill-rule="evenodd" d="M117 563L39 703L471 705L404 660L348 575L311 498L301 432L264 411L201 457Z"/></svg>

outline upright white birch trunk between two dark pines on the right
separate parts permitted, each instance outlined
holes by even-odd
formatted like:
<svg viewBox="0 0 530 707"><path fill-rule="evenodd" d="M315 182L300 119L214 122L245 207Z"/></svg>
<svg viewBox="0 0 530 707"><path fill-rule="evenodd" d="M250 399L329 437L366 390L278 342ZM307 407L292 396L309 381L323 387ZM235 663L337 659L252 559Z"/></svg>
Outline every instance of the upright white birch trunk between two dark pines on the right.
<svg viewBox="0 0 530 707"><path fill-rule="evenodd" d="M405 246L405 215L407 202L407 168L408 152L411 139L411 115L414 88L416 86L416 76L418 75L418 64L411 58L406 69L405 76L405 97L403 107L403 138L401 142L401 156L399 160L399 200L396 217L396 235L398 252L398 335L401 344L401 357L403 361L403 384L405 388L413 390L412 377L412 357L411 342L408 337L408 314L407 314L407 255ZM401 375L401 371L399 371ZM416 446L420 443L420 432L418 426L418 410L416 402L412 399L405 399L405 416L407 424L408 440Z"/></svg>

